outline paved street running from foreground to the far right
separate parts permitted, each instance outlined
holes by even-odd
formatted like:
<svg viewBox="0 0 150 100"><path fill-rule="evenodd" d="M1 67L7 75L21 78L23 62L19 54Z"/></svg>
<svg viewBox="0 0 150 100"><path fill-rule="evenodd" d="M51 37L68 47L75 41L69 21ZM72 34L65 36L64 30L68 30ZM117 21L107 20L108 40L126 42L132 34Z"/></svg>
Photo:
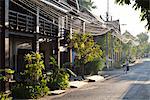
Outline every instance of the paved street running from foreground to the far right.
<svg viewBox="0 0 150 100"><path fill-rule="evenodd" d="M90 83L52 100L150 100L150 60L145 59L127 74Z"/></svg>

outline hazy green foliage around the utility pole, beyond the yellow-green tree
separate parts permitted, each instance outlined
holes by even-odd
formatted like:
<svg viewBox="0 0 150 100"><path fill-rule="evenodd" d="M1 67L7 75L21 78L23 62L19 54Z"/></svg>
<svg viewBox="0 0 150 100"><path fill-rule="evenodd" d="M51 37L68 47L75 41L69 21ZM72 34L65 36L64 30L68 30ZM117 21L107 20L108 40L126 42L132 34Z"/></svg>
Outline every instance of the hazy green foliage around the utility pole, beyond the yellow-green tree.
<svg viewBox="0 0 150 100"><path fill-rule="evenodd" d="M109 61L108 64L109 66L112 67L120 67L120 57L118 57L115 54L119 54L120 52L122 52L122 43L121 41L115 37L112 36L111 33L107 33L107 41L108 41L108 57L109 59L112 59L113 61ZM97 40L97 44L101 45L101 49L103 51L103 60L106 61L106 34L99 36L98 40ZM119 59L116 59L116 58ZM106 66L105 66L106 67Z"/></svg>

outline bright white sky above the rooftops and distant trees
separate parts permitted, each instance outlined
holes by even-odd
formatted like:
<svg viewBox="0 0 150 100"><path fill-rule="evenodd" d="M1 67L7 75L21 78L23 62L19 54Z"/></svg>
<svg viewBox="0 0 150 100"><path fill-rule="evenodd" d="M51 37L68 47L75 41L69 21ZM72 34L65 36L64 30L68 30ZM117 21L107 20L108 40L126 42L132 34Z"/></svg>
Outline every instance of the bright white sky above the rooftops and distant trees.
<svg viewBox="0 0 150 100"><path fill-rule="evenodd" d="M107 11L107 0L92 0L97 9L92 10L93 14L97 16L106 17ZM117 5L115 0L109 0L109 15L112 16L113 20L120 20L121 33L126 30L132 35L136 36L141 32L146 32L146 22L140 21L140 11L135 11L132 5Z"/></svg>

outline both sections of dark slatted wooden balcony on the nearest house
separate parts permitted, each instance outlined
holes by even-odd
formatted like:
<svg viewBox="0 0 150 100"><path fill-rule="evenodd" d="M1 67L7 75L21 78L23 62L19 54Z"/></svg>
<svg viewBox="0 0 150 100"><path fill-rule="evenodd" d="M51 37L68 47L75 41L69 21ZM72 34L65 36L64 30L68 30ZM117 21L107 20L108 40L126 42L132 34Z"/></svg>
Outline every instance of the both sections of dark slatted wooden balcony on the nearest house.
<svg viewBox="0 0 150 100"><path fill-rule="evenodd" d="M36 16L22 14L16 11L9 10L9 28L11 30L23 31L23 32L36 32ZM48 20L40 16L39 20L39 33L42 35L48 35L50 37L57 37L58 25L54 24L51 20Z"/></svg>

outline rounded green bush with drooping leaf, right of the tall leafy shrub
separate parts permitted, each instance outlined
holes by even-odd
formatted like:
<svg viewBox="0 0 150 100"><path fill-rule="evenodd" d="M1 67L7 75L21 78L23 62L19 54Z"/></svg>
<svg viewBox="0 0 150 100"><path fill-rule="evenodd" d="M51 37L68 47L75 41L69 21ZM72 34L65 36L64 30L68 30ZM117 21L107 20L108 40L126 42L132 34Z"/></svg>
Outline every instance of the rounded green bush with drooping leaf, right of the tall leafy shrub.
<svg viewBox="0 0 150 100"><path fill-rule="evenodd" d="M69 74L75 74L69 69L60 68L53 57L50 57L50 65L52 65L52 68L47 73L49 88L51 90L66 89L69 85Z"/></svg>

